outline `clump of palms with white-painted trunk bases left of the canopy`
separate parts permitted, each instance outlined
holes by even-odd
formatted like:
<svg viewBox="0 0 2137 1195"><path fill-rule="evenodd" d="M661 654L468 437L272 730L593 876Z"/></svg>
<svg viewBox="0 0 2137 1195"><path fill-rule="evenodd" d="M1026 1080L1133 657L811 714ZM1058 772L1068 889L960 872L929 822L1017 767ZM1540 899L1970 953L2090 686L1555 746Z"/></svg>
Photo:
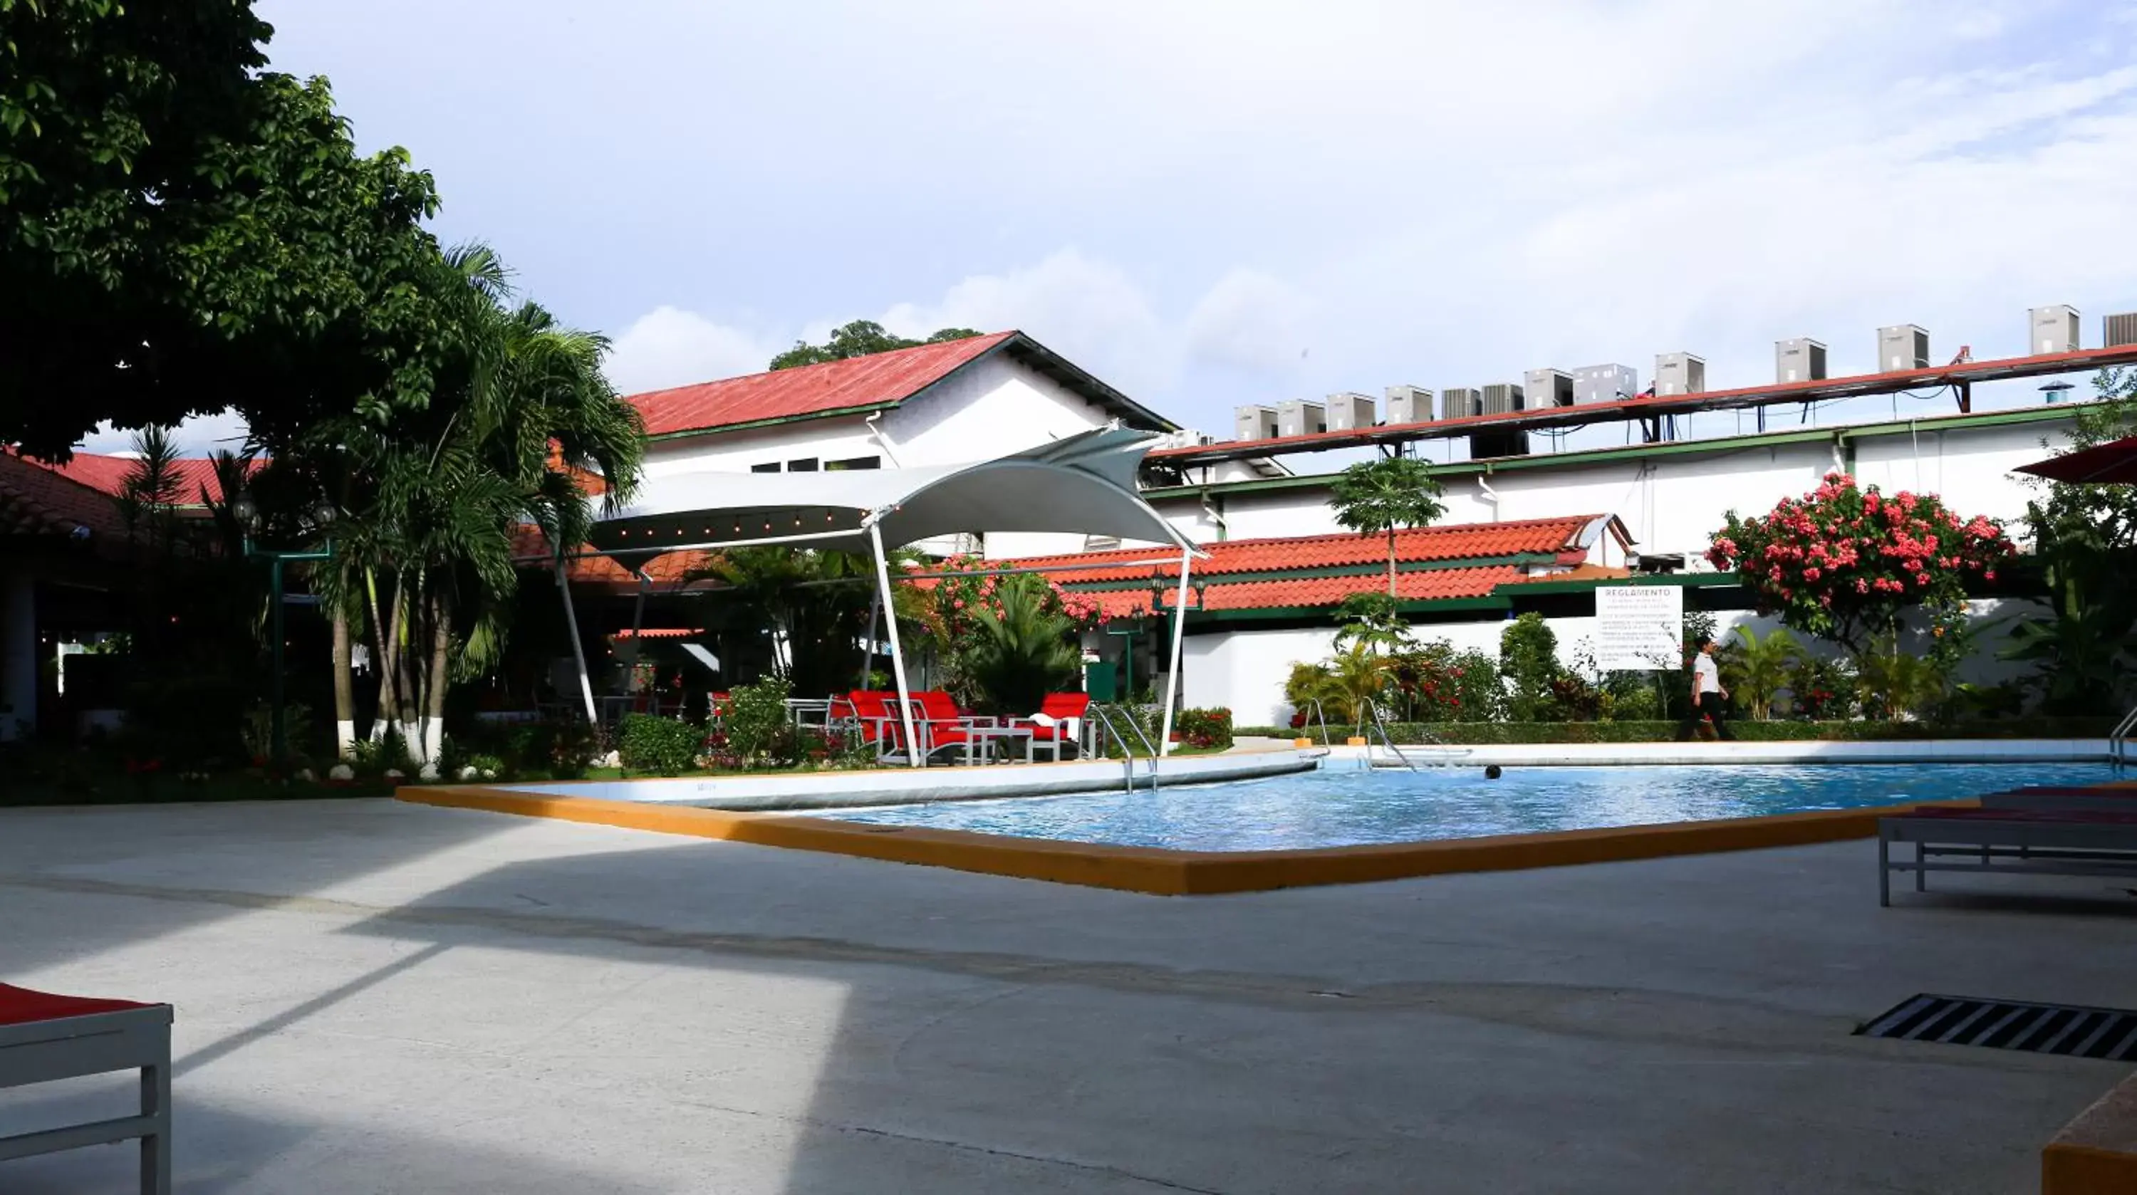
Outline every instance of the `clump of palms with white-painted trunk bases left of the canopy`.
<svg viewBox="0 0 2137 1195"><path fill-rule="evenodd" d="M380 667L378 718L410 755L442 746L444 693L489 667L517 573L513 532L534 524L558 545L586 543L594 509L637 487L643 423L600 372L607 340L511 304L487 248L440 259L438 304L451 329L430 402L385 421L316 428L293 455L340 509L336 567L323 577L336 616L370 616ZM338 686L346 652L336 650Z"/></svg>

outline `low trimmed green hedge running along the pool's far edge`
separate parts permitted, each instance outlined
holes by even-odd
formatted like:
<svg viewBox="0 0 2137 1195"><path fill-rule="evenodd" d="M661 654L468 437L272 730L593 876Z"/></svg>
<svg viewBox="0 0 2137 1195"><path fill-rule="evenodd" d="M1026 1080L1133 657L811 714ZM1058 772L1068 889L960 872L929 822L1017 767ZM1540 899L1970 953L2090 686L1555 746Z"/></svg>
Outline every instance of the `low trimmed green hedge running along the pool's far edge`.
<svg viewBox="0 0 2137 1195"><path fill-rule="evenodd" d="M2000 718L1994 723L1750 723L1731 720L1729 729L1746 742L1891 742L1891 740L2011 740L2011 738L2107 738L2113 718ZM1235 735L1321 738L1308 731L1278 727L1233 727ZM1346 735L1329 727L1331 738ZM1402 744L1449 742L1466 746L1524 742L1669 742L1678 723L1395 723L1387 733Z"/></svg>

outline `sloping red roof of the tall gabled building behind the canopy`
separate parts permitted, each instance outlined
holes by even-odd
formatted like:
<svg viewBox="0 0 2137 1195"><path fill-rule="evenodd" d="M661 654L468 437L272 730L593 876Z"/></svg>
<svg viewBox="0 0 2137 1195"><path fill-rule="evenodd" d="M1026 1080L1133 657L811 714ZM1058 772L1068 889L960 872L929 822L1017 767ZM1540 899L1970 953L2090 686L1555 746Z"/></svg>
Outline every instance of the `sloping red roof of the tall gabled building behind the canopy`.
<svg viewBox="0 0 2137 1195"><path fill-rule="evenodd" d="M1015 336L1019 333L996 331L917 344L821 366L656 389L624 402L639 408L650 436L898 406Z"/></svg>

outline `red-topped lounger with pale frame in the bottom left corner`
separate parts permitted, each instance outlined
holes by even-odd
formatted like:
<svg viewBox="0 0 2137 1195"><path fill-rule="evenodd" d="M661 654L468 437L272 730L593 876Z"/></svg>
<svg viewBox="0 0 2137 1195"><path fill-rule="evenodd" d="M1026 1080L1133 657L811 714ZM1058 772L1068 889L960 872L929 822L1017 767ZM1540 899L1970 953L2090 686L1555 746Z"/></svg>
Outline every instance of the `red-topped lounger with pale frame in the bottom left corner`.
<svg viewBox="0 0 2137 1195"><path fill-rule="evenodd" d="M141 1195L171 1193L171 1005L0 983L0 1088L141 1071L141 1114L0 1137L0 1163L141 1139Z"/></svg>

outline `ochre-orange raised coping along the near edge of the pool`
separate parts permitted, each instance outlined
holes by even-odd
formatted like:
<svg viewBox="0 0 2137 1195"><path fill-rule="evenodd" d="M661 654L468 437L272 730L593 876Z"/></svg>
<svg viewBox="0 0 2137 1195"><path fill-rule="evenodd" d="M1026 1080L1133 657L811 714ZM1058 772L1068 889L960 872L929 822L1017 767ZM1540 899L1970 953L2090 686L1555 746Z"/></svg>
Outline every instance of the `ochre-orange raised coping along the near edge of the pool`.
<svg viewBox="0 0 2137 1195"><path fill-rule="evenodd" d="M1109 887L1148 896L1222 896L1457 872L1504 872L1810 847L1874 838L1881 817L1915 808L1966 808L1977 804L1970 800L1910 802L1720 821L1498 834L1489 838L1445 838L1368 847L1314 847L1299 851L1173 851L1165 847L1011 838L966 829L872 825L831 817L566 797L489 785L404 787L395 800L750 842L756 847L821 851L960 872Z"/></svg>

